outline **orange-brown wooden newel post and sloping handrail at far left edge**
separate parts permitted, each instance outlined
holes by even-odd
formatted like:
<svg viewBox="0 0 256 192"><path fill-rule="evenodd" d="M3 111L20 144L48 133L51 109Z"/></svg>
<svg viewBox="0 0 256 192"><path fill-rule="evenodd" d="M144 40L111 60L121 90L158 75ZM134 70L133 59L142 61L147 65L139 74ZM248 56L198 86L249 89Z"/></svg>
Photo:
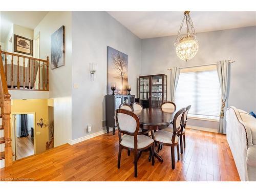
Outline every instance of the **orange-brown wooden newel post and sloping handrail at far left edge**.
<svg viewBox="0 0 256 192"><path fill-rule="evenodd" d="M1 114L2 126L4 127L5 140L5 166L12 164L12 140L11 140L11 95L9 94L7 81L2 60L2 50L0 46L0 92L1 92Z"/></svg>

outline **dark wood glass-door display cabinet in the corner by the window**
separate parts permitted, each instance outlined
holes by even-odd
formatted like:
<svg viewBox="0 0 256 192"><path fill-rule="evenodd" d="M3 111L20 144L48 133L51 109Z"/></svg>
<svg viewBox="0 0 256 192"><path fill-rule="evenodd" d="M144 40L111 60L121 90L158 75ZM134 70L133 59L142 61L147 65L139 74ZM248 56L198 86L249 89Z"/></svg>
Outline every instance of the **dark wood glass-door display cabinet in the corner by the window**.
<svg viewBox="0 0 256 192"><path fill-rule="evenodd" d="M161 106L167 98L167 76L165 74L139 77L139 102L143 108Z"/></svg>

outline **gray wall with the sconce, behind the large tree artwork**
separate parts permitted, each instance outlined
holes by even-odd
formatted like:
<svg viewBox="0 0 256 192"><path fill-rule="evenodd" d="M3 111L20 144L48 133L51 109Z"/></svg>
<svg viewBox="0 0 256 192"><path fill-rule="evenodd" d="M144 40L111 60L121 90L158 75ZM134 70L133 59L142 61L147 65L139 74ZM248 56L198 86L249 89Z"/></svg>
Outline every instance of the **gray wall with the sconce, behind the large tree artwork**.
<svg viewBox="0 0 256 192"><path fill-rule="evenodd" d="M136 93L140 75L141 39L106 12L72 12L72 139L102 130L107 93L107 46L128 55L128 80ZM97 64L95 81L90 81L89 63Z"/></svg>

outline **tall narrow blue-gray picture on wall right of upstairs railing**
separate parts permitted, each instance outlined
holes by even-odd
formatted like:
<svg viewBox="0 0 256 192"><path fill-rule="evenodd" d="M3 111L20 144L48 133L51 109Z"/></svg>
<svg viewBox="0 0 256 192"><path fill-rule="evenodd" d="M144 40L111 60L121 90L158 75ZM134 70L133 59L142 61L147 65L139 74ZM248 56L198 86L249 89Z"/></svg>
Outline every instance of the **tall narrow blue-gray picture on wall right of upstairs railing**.
<svg viewBox="0 0 256 192"><path fill-rule="evenodd" d="M65 65L65 27L51 35L51 69Z"/></svg>

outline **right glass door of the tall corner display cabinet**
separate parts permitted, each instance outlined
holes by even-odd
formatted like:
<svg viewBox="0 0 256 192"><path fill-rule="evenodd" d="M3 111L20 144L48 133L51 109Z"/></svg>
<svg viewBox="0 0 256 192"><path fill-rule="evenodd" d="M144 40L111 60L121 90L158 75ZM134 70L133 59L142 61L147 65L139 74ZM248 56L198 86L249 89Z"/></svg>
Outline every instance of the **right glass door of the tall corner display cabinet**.
<svg viewBox="0 0 256 192"><path fill-rule="evenodd" d="M163 98L163 76L152 76L151 78L151 107L161 106Z"/></svg>

